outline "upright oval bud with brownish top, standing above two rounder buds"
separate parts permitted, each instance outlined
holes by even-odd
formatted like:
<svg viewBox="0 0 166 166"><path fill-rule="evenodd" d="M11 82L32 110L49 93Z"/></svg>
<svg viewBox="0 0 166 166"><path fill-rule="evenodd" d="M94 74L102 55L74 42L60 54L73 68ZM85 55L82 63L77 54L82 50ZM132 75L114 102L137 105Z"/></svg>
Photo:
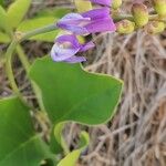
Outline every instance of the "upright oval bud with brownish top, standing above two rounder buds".
<svg viewBox="0 0 166 166"><path fill-rule="evenodd" d="M142 28L148 22L148 10L143 3L134 3L132 14L137 27Z"/></svg>

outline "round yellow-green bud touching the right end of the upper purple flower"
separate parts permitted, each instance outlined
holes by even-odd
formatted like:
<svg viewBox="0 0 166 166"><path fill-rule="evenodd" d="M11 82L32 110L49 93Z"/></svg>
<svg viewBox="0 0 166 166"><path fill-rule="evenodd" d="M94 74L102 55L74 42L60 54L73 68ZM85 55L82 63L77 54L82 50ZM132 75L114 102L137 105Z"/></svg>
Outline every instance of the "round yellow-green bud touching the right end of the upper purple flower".
<svg viewBox="0 0 166 166"><path fill-rule="evenodd" d="M122 20L116 23L116 31L122 34L132 33L135 29L135 23L129 20Z"/></svg>

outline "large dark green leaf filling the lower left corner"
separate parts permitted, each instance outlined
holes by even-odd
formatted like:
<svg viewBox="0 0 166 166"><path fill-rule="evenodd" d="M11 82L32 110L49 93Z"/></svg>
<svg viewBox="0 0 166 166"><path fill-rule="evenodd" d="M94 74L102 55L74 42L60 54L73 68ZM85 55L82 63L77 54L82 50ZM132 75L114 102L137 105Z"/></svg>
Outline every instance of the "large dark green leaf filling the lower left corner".
<svg viewBox="0 0 166 166"><path fill-rule="evenodd" d="M35 134L29 110L17 97L0 101L0 165L39 166L50 157L48 145Z"/></svg>

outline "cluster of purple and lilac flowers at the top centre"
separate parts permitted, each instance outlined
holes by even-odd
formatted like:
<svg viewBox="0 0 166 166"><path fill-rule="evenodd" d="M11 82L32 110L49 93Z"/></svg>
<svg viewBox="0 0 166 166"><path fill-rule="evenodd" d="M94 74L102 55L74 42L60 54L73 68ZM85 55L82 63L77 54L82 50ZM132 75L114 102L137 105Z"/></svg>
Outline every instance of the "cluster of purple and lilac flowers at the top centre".
<svg viewBox="0 0 166 166"><path fill-rule="evenodd" d="M87 0L84 0L87 1ZM94 46L93 42L81 44L76 35L89 35L96 32L115 31L115 24L110 13L111 0L90 0L101 4L98 9L92 9L83 13L69 13L60 19L56 27L70 32L56 38L51 50L51 58L55 62L76 63L85 61L84 56L76 56L77 52L84 52Z"/></svg>

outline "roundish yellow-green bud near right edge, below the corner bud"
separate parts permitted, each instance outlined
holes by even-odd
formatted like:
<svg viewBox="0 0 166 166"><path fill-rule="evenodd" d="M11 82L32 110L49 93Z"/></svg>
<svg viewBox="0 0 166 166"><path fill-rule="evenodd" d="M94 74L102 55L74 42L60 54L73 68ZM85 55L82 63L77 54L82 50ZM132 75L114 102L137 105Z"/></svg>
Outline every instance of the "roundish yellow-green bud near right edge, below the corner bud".
<svg viewBox="0 0 166 166"><path fill-rule="evenodd" d="M165 29L165 24L162 21L151 21L145 27L146 32L151 34L160 33L164 31L164 29Z"/></svg>

